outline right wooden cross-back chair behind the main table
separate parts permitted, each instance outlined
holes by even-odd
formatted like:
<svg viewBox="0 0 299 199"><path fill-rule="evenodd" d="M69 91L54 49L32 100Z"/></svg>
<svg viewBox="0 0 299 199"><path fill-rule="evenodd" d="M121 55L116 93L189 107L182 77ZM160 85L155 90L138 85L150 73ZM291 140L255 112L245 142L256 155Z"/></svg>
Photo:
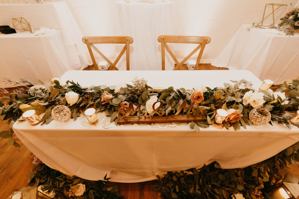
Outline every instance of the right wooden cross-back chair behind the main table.
<svg viewBox="0 0 299 199"><path fill-rule="evenodd" d="M196 60L196 64L194 70L198 69L200 58L202 57L202 53L205 49L205 45L210 43L210 37L202 37L202 36L173 36L173 35L161 35L158 36L158 41L161 43L161 52L162 52L162 70L165 70L165 50L168 51L170 56L176 62L176 67L173 70L183 70L182 65L187 61L197 50L200 49L199 55ZM170 48L166 43L184 43L184 44L199 44L183 61L179 62L174 54L171 52Z"/></svg>

